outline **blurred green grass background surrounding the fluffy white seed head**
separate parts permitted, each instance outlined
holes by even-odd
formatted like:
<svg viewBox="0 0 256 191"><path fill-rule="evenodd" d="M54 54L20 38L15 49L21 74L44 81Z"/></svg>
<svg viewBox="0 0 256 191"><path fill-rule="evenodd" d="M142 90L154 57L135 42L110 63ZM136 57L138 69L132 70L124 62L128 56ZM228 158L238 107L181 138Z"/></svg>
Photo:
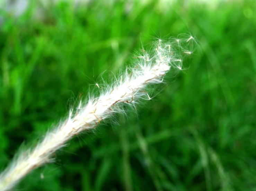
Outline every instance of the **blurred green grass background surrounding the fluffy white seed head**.
<svg viewBox="0 0 256 191"><path fill-rule="evenodd" d="M188 70L138 111L56 152L16 187L256 190L256 2L15 1L0 10L0 169L141 41L192 34ZM17 9L18 8L18 9ZM19 9L20 8L20 9ZM171 76L171 74L170 74ZM26 146L24 146L26 147Z"/></svg>

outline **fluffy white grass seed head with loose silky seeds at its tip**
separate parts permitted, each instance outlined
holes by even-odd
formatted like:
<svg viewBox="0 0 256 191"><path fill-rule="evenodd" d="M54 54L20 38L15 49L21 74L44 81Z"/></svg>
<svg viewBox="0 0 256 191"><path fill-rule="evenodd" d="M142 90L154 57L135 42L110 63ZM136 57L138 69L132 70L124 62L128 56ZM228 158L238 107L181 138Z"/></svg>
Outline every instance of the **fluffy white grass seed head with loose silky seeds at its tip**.
<svg viewBox="0 0 256 191"><path fill-rule="evenodd" d="M124 104L135 107L139 99L150 100L148 85L163 82L170 69L182 70L181 57L192 53L186 48L191 47L193 40L193 37L171 41L158 39L149 52L141 49L133 57L134 67L127 68L107 89L96 83L97 89L101 89L100 96L80 100L77 108L70 110L68 118L48 131L36 147L19 152L0 174L0 191L10 190L30 171L53 162L55 151L64 147L74 135L95 129L113 113L123 112Z"/></svg>

